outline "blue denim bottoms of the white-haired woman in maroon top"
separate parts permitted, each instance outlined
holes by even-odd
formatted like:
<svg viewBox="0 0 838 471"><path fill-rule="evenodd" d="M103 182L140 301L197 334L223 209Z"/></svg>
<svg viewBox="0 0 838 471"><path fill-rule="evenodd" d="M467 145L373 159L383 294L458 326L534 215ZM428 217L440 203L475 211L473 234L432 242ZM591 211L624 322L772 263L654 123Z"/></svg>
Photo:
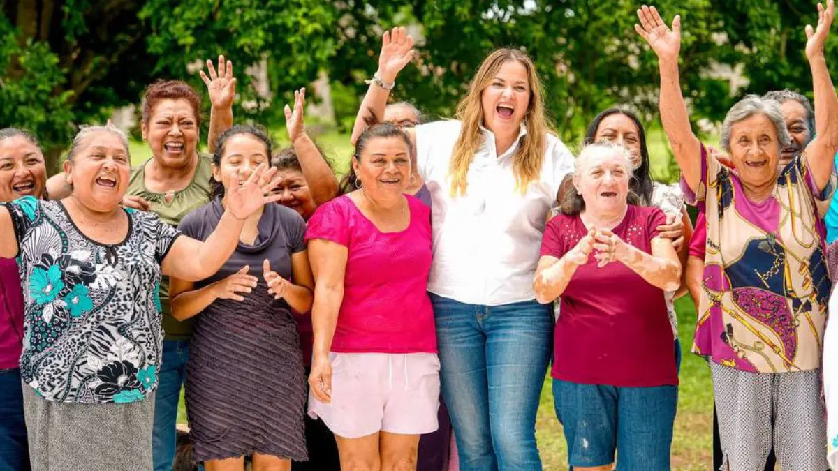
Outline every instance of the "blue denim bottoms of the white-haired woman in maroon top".
<svg viewBox="0 0 838 471"><path fill-rule="evenodd" d="M553 380L571 467L669 471L678 386L618 387Z"/></svg>

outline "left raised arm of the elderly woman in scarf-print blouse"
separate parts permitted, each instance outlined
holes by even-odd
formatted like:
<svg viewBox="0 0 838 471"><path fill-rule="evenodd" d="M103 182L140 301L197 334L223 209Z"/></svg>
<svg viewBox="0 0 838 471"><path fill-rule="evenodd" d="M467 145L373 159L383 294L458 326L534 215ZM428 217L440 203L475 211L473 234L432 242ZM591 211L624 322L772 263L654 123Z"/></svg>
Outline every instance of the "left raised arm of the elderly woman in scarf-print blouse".
<svg viewBox="0 0 838 471"><path fill-rule="evenodd" d="M692 132L690 114L680 89L680 16L676 15L672 20L671 30L654 7L644 5L637 11L637 16L640 24L635 24L634 29L658 56L660 121L664 125L666 137L670 140L681 175L690 185L690 189L696 191L701 182L701 142Z"/></svg>

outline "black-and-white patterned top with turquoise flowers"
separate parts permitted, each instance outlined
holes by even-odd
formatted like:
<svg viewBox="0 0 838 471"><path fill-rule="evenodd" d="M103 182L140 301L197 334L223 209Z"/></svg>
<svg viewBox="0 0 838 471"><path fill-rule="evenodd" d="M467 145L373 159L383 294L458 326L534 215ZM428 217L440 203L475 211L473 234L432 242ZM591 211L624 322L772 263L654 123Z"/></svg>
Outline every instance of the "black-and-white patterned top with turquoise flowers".
<svg viewBox="0 0 838 471"><path fill-rule="evenodd" d="M49 401L142 401L162 359L160 264L180 233L128 210L127 237L91 241L63 204L3 204L18 238L23 283L23 381Z"/></svg>

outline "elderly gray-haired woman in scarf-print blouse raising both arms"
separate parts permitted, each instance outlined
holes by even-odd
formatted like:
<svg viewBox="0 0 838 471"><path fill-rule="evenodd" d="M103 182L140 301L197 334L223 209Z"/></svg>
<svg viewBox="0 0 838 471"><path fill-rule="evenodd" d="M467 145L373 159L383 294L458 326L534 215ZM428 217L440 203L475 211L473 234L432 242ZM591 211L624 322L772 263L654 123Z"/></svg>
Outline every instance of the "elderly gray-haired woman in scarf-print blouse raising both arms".
<svg viewBox="0 0 838 471"><path fill-rule="evenodd" d="M830 279L816 200L832 197L838 96L824 45L835 15L818 5L806 27L817 138L780 169L791 139L777 101L746 96L727 113L730 170L692 132L681 95L680 17L638 10L638 31L658 56L660 115L681 186L706 211L706 256L693 351L710 360L724 465L762 469L772 444L781 468L825 469L820 358Z"/></svg>

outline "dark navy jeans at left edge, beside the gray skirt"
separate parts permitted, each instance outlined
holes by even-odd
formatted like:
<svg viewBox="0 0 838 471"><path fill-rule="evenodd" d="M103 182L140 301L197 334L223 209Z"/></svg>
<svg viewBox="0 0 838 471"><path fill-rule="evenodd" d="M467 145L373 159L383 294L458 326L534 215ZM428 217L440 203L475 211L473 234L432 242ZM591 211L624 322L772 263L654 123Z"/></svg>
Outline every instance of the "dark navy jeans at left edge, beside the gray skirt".
<svg viewBox="0 0 838 471"><path fill-rule="evenodd" d="M0 370L0 469L29 469L23 389L17 368Z"/></svg>

